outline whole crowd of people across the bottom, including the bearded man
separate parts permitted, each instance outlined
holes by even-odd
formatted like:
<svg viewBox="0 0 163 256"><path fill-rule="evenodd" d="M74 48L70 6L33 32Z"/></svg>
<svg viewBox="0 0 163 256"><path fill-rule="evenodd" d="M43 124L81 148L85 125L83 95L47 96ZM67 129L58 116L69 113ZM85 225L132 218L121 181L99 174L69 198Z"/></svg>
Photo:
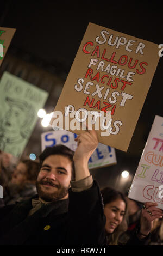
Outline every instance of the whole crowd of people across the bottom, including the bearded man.
<svg viewBox="0 0 163 256"><path fill-rule="evenodd" d="M75 152L46 148L40 161L1 152L1 245L163 245L163 211L131 200L115 188L102 190L88 162L98 145L87 130Z"/></svg>

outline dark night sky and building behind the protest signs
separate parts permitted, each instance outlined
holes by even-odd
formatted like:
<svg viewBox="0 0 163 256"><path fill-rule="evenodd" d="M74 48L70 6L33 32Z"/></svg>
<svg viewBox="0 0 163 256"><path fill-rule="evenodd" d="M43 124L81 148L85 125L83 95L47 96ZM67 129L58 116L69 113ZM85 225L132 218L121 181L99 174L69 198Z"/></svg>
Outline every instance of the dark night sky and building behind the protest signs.
<svg viewBox="0 0 163 256"><path fill-rule="evenodd" d="M1 27L16 28L0 69L49 92L45 105L52 112L89 22L137 38L163 44L162 1L8 1L1 3ZM158 48L159 51L159 48ZM134 177L155 115L163 116L162 58L127 153L116 150L117 164L92 170L101 187L127 191ZM43 128L38 118L23 156L41 153ZM128 170L128 180L121 172Z"/></svg>

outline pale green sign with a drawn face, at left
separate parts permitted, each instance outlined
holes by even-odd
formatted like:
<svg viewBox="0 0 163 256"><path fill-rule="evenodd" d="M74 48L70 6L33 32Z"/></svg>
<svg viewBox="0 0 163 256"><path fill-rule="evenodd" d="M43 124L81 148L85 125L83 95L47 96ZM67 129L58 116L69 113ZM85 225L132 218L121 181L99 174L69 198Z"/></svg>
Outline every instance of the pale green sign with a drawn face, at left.
<svg viewBox="0 0 163 256"><path fill-rule="evenodd" d="M48 93L4 72L0 81L0 149L19 157Z"/></svg>

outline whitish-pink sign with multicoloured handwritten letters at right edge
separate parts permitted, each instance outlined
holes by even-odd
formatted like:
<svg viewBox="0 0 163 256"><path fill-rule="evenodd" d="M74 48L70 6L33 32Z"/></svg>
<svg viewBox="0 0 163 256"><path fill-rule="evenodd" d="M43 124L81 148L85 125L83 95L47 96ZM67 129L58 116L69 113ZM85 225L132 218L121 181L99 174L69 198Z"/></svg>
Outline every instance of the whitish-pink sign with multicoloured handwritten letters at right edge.
<svg viewBox="0 0 163 256"><path fill-rule="evenodd" d="M163 209L163 117L155 116L128 197ZM161 185L162 184L162 185Z"/></svg>

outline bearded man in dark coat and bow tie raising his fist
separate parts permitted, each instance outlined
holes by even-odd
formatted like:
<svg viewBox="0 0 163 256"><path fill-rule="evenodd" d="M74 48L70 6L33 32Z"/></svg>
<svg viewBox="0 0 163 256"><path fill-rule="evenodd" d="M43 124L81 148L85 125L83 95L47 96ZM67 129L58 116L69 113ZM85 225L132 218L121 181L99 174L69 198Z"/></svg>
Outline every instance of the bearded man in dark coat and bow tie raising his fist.
<svg viewBox="0 0 163 256"><path fill-rule="evenodd" d="M1 245L104 243L102 197L88 168L98 145L97 134L86 131L75 140L78 147L74 155L64 145L46 148L40 155L38 195L0 209Z"/></svg>

